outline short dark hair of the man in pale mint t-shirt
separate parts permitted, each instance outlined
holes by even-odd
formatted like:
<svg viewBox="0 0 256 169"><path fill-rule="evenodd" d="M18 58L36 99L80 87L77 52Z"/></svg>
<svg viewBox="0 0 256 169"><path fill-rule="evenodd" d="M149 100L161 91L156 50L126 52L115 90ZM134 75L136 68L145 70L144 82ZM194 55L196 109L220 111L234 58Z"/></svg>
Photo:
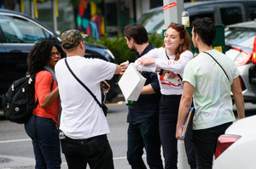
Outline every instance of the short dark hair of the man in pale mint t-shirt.
<svg viewBox="0 0 256 169"><path fill-rule="evenodd" d="M194 33L201 37L202 42L211 46L216 34L216 26L210 18L200 18L192 22Z"/></svg>

